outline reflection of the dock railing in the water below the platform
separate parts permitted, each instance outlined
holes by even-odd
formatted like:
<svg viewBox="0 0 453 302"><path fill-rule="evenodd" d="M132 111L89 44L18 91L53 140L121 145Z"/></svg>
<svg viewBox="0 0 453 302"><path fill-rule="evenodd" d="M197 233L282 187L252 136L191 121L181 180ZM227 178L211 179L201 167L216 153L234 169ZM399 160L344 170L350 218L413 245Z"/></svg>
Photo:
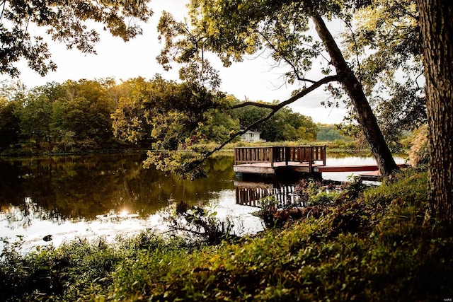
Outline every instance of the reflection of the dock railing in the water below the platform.
<svg viewBox="0 0 453 302"><path fill-rule="evenodd" d="M234 182L236 187L236 204L261 207L265 197L273 196L276 207L290 204L303 206L301 196L295 192L297 185L273 185L257 182Z"/></svg>

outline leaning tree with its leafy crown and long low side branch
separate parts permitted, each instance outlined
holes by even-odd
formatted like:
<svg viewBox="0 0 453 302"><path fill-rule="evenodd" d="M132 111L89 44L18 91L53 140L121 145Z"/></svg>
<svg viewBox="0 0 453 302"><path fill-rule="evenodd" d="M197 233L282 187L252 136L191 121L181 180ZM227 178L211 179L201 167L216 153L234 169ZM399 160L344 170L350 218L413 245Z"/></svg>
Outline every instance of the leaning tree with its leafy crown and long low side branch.
<svg viewBox="0 0 453 302"><path fill-rule="evenodd" d="M396 170L394 158L384 140L376 117L367 101L362 83L357 79L338 48L323 18L343 17L350 10L342 1L190 1L190 26L178 23L164 13L159 22L165 47L159 62L170 67L171 62L205 64L205 52L218 54L224 66L239 62L246 54L270 52L277 64L287 64L285 76L289 83L299 81L300 91L292 98L275 105L246 102L236 105L256 105L271 110L260 122L265 122L281 108L325 84L338 82L348 94L370 149L383 175ZM315 25L322 42L316 42L307 31L309 21ZM323 67L326 76L317 81L305 74L312 68L314 59L325 50L330 60ZM336 69L332 74L331 66ZM255 127L256 124L248 125ZM239 132L238 134L241 134Z"/></svg>

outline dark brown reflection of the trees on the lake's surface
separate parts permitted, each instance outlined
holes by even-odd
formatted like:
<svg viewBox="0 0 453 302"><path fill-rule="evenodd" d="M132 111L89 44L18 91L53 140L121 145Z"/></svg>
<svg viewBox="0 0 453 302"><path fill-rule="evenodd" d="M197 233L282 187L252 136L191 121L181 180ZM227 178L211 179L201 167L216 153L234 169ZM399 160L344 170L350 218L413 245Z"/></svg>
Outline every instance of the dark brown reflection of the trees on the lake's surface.
<svg viewBox="0 0 453 302"><path fill-rule="evenodd" d="M169 199L196 203L233 187L231 156L208 161L210 178L194 182L145 170L143 160L144 155L134 154L0 161L0 206L15 206L26 216L30 197L33 213L40 212L43 219L94 219L123 208L147 216Z"/></svg>

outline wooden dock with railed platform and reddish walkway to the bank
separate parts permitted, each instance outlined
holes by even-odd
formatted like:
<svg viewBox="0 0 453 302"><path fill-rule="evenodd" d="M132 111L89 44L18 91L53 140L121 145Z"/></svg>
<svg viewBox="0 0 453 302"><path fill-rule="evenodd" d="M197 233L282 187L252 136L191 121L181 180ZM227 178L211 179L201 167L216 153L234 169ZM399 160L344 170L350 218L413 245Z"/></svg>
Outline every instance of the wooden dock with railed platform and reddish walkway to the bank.
<svg viewBox="0 0 453 302"><path fill-rule="evenodd" d="M327 172L377 171L369 177L379 178L377 165L326 165L326 146L236 147L233 170L236 175L307 173L315 176Z"/></svg>

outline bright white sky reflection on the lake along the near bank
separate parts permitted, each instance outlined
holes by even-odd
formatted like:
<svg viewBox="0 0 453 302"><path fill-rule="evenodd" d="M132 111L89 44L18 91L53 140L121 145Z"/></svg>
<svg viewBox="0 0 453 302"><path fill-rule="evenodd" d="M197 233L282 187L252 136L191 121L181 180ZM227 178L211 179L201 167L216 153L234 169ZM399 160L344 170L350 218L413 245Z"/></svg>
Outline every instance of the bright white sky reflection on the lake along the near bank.
<svg viewBox="0 0 453 302"><path fill-rule="evenodd" d="M246 233L256 233L263 230L260 219L253 216L257 211L256 207L246 207L234 202L234 190L218 192L218 197L210 200L208 209L217 211L219 219L229 218L234 222L234 233L243 236ZM30 202L30 199L27 199ZM55 221L43 220L38 212L30 211L27 217L21 214L20 209L11 207L0 214L0 238L7 238L10 243L21 237L23 252L31 252L36 248L45 246L58 246L70 240L96 240L103 238L107 241L113 240L118 235L134 235L143 230L152 230L156 233L165 233L168 226L162 219L164 208L156 214L147 217L139 217L138 214L128 214L122 211L115 214L110 211L108 214L100 215L92 221ZM51 240L45 240L50 236ZM4 243L0 245L1 250Z"/></svg>

